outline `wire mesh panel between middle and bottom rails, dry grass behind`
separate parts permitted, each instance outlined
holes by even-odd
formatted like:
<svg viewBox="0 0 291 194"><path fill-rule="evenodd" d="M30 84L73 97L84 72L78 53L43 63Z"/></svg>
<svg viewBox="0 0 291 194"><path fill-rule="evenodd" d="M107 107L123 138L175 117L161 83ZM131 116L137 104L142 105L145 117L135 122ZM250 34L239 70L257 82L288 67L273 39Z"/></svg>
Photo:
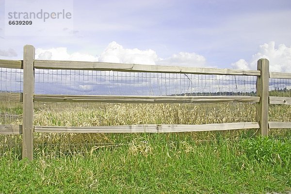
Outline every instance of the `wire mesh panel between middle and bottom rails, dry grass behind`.
<svg viewBox="0 0 291 194"><path fill-rule="evenodd" d="M255 103L115 104L62 103L35 107L37 126L113 126L255 122Z"/></svg>

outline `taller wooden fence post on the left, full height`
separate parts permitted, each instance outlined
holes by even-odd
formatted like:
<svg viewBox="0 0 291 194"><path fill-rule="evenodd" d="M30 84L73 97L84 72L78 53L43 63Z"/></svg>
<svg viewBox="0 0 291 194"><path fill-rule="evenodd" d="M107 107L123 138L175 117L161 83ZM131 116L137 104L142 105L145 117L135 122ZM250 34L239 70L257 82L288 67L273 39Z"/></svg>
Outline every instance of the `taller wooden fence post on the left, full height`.
<svg viewBox="0 0 291 194"><path fill-rule="evenodd" d="M23 48L23 126L22 159L32 160L33 154L33 94L35 49L32 45Z"/></svg>

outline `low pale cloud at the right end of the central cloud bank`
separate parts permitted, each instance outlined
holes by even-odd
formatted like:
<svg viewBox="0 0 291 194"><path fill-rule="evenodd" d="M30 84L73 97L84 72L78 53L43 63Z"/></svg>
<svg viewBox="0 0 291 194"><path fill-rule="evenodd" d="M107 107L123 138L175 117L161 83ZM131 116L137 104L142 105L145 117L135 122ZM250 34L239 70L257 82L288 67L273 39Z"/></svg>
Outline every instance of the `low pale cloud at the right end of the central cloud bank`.
<svg viewBox="0 0 291 194"><path fill-rule="evenodd" d="M194 52L179 52L173 54L171 57L160 59L157 64L161 65L175 65L175 66L205 66L206 59L204 56Z"/></svg>

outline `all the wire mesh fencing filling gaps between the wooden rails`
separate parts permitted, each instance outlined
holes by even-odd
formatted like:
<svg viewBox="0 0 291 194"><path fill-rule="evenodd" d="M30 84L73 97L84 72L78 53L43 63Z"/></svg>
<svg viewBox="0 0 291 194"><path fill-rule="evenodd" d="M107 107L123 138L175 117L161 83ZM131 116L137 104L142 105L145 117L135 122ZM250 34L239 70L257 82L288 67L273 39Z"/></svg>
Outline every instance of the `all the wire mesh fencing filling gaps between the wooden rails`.
<svg viewBox="0 0 291 194"><path fill-rule="evenodd" d="M35 69L35 94L108 96L257 96L257 76ZM23 70L0 68L0 92L23 92ZM270 79L270 96L291 97L288 79ZM22 103L0 101L0 124L22 124ZM270 121L291 121L290 106L270 105ZM65 103L35 102L35 126L115 126L258 122L256 103ZM161 134L190 141L253 137L257 129ZM282 134L274 129L271 134ZM277 132L279 131L279 132ZM290 132L284 132L290 137ZM143 134L34 133L35 153L70 154L96 147L126 146ZM2 135L2 146L17 147L21 136ZM279 138L279 135L276 137ZM281 136L280 136L281 137ZM11 141L8 139L10 138ZM18 146L17 146L18 145ZM17 150L15 148L15 150Z"/></svg>

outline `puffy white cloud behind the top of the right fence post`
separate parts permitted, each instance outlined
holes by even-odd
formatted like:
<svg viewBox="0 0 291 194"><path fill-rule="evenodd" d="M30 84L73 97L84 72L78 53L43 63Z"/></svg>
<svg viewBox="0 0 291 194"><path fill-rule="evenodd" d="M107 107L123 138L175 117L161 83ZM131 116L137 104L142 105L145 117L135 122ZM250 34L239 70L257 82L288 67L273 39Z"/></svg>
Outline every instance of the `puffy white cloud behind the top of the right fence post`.
<svg viewBox="0 0 291 194"><path fill-rule="evenodd" d="M236 69L257 69L257 61L266 58L270 61L270 71L291 72L291 47L284 44L275 47L275 42L266 43L259 46L259 51L252 56L249 62L244 59L232 64Z"/></svg>

